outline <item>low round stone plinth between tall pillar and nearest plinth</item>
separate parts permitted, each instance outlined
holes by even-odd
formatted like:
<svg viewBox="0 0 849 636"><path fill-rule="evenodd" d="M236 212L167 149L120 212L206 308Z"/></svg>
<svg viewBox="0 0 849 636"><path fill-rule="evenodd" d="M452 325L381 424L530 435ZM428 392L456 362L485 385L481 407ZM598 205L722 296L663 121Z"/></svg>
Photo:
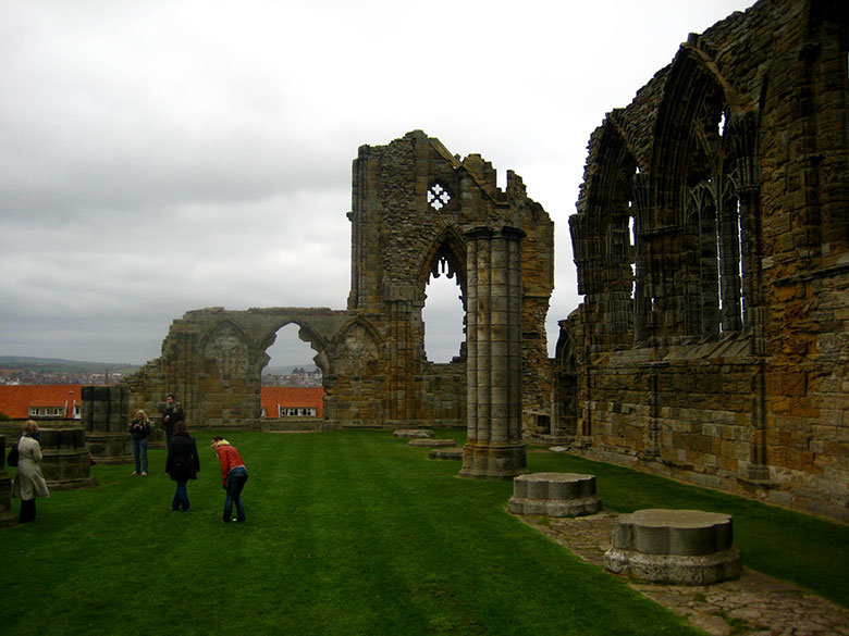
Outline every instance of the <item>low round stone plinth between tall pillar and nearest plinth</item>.
<svg viewBox="0 0 849 636"><path fill-rule="evenodd" d="M582 516L601 510L595 475L529 473L513 479L507 511L513 514Z"/></svg>

